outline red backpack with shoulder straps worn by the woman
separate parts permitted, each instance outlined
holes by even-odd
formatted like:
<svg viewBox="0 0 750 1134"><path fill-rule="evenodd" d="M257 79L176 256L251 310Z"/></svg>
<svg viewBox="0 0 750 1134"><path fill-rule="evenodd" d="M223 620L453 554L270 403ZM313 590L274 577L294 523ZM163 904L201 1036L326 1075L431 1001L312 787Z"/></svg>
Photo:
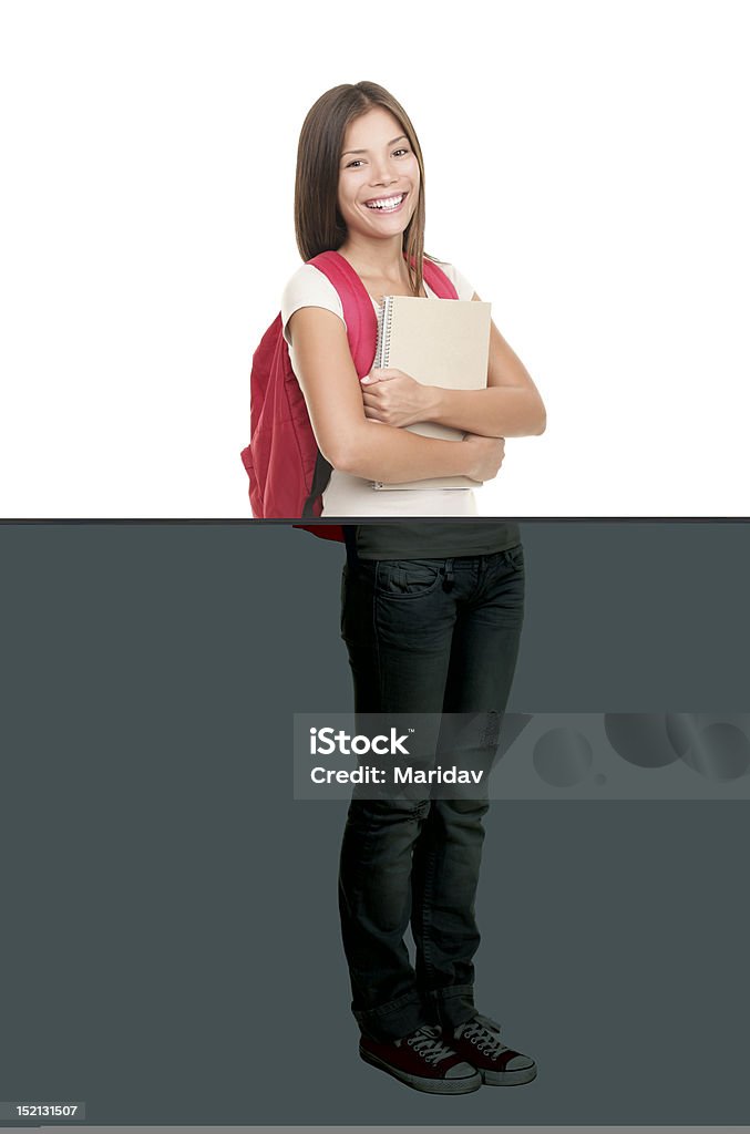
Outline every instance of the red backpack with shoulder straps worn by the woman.
<svg viewBox="0 0 750 1134"><path fill-rule="evenodd" d="M372 301L357 273L338 252L321 252L307 263L318 268L338 291L354 367L364 378L372 369L378 337ZM424 260L423 272L439 298L458 298L448 277L432 261ZM318 448L307 406L292 370L280 313L253 353L250 405L251 440L241 456L250 477L253 516L256 519L320 516L331 466Z"/></svg>

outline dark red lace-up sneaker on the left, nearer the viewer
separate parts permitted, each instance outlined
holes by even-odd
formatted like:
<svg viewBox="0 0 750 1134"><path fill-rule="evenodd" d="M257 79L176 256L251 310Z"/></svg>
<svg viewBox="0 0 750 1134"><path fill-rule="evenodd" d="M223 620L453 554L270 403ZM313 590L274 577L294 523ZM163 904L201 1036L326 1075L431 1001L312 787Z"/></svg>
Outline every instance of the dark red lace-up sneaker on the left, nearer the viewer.
<svg viewBox="0 0 750 1134"><path fill-rule="evenodd" d="M415 1091L429 1094L469 1094L482 1085L475 1067L443 1042L437 1027L420 1027L412 1035L379 1043L363 1035L360 1056Z"/></svg>

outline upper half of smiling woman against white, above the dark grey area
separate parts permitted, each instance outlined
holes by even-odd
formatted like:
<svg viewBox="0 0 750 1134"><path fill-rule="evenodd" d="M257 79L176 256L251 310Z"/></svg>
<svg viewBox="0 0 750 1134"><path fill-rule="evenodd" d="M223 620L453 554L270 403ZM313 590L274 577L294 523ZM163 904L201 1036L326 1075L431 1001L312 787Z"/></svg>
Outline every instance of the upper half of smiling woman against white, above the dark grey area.
<svg viewBox="0 0 750 1134"><path fill-rule="evenodd" d="M381 86L337 86L310 110L300 136L295 226L303 260L337 252L378 314L385 295L433 297L423 278L422 153L408 116ZM460 299L479 299L452 264L435 262ZM545 429L541 398L494 323L487 389L436 390L393 369L360 380L339 296L312 264L288 281L281 318L318 447L330 466L325 517L475 515L471 489L376 492L372 481L491 480L504 438ZM424 421L454 426L465 438L433 440L404 428Z"/></svg>

